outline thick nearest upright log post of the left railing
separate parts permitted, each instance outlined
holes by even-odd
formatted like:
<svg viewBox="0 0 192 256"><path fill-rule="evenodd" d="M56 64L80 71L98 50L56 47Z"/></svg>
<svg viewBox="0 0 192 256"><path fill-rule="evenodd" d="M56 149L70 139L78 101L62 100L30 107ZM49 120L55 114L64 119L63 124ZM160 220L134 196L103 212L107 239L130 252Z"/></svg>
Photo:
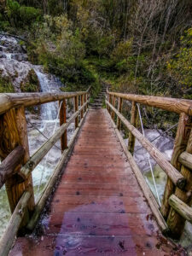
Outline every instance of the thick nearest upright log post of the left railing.
<svg viewBox="0 0 192 256"><path fill-rule="evenodd" d="M24 107L13 108L0 116L0 156L5 159L6 156L15 149L16 146L22 146L25 149L23 162L25 164L29 160L29 146L26 131L26 116ZM17 166L15 171L20 172L20 166ZM11 212L14 212L21 195L27 190L31 193L31 198L27 204L29 211L34 209L34 194L32 188L32 175L23 179L15 174L5 183L7 195L9 199L9 207ZM25 214L23 224L28 221L29 215Z"/></svg>

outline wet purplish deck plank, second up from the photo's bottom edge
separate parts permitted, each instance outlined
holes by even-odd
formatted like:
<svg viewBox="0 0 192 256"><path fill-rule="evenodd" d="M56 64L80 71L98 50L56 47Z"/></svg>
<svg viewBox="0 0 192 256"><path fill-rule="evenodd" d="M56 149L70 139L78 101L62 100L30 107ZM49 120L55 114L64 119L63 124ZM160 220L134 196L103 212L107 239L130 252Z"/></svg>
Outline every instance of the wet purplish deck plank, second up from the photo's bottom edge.
<svg viewBox="0 0 192 256"><path fill-rule="evenodd" d="M110 215L110 218L109 218ZM49 214L46 234L84 236L152 236L158 227L148 214L102 212L54 212ZM143 221L145 219L146 221Z"/></svg>

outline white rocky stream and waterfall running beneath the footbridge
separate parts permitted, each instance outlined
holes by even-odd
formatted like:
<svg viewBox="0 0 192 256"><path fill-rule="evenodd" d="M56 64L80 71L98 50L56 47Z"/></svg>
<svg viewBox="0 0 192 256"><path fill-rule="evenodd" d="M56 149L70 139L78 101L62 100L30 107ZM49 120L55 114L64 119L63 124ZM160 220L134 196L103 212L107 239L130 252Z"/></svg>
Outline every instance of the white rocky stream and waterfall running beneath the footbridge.
<svg viewBox="0 0 192 256"><path fill-rule="evenodd" d="M22 81L25 82L27 74L32 69L37 74L40 90L42 92L60 91L60 87L64 86L61 84L60 79L57 79L54 75L44 73L43 67L32 65L32 63L27 61L25 46L21 47L15 38L0 38L0 72L3 77L11 78L15 92L20 92L20 83ZM59 119L57 118L58 110L58 102L43 104L40 108L40 113L31 113L26 110L30 155L32 155L47 140L45 137L51 137L55 129L59 127ZM70 113L67 113L67 116L70 116ZM73 131L74 125L72 124L67 129L68 140L72 137ZM44 134L45 137L42 134ZM145 134L149 141L160 136L160 132L156 130L145 130ZM127 143L127 140L125 141ZM165 154L167 160L171 160L173 148L172 138L165 136L159 137L154 140L153 144L160 150L160 152ZM49 154L44 157L37 168L32 172L36 199L38 198L38 195L40 195L42 189L44 189L45 183L61 157L60 142L57 142L55 146L56 147L53 147L49 151ZM136 142L134 158L137 161L140 170L142 170L143 176L150 189L155 195L154 183L151 172L149 171L148 155L138 142ZM153 159L150 160L154 168L154 177L157 183L158 193L160 199L162 199L166 183L166 174L160 169L160 166L156 165ZM0 190L0 214L2 217L0 218L0 236L2 236L3 230L5 230L10 218L9 205L4 187ZM191 246L192 238L189 239L191 234L192 226L187 223L181 240L184 247Z"/></svg>

